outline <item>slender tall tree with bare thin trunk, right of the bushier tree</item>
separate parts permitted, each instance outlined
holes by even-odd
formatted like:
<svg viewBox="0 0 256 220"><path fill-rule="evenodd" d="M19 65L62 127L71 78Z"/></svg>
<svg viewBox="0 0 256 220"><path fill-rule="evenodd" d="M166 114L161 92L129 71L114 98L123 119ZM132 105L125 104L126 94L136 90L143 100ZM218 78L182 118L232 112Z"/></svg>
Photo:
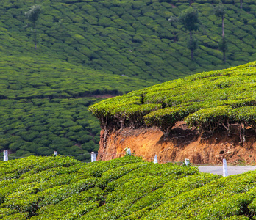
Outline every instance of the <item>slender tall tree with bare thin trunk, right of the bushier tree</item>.
<svg viewBox="0 0 256 220"><path fill-rule="evenodd" d="M224 5L221 3L218 4L216 7L214 7L214 14L217 17L221 17L222 20L222 40L220 43L218 43L218 48L223 52L223 61L226 62L225 52L227 51L227 42L224 36L224 16L226 14L226 7L224 7Z"/></svg>

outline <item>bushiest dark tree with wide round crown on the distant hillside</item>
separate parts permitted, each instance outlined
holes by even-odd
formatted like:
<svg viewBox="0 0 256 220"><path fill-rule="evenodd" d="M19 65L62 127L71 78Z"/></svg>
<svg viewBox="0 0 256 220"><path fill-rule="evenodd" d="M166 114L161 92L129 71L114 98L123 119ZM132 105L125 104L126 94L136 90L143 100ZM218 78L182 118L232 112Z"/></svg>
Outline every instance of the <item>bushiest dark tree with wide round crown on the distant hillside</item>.
<svg viewBox="0 0 256 220"><path fill-rule="evenodd" d="M191 59L193 59L193 51L196 50L197 43L196 38L192 36L192 32L199 29L199 12L194 7L188 7L180 13L178 21L189 31L188 48L191 50Z"/></svg>

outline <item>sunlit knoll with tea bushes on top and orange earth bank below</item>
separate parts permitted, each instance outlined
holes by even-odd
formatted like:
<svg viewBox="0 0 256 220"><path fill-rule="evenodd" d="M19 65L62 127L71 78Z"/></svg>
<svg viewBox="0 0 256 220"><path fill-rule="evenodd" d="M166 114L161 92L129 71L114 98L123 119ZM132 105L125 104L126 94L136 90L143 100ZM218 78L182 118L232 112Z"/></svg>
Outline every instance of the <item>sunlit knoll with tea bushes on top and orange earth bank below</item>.
<svg viewBox="0 0 256 220"><path fill-rule="evenodd" d="M118 157L129 146L164 161L188 157L214 164L239 155L255 161L255 64L198 73L90 106L102 125L100 158ZM179 127L179 121L185 123Z"/></svg>

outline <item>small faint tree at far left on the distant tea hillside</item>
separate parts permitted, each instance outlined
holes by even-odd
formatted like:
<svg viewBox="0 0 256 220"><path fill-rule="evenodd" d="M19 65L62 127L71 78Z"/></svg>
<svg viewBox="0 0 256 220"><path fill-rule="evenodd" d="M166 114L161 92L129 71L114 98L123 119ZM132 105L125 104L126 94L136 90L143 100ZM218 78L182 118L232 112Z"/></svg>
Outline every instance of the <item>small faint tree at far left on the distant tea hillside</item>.
<svg viewBox="0 0 256 220"><path fill-rule="evenodd" d="M41 6L39 4L34 4L30 7L30 10L25 13L26 18L29 20L30 25L34 29L34 42L35 42L35 49L37 48L37 32L36 32L36 23L42 12Z"/></svg>

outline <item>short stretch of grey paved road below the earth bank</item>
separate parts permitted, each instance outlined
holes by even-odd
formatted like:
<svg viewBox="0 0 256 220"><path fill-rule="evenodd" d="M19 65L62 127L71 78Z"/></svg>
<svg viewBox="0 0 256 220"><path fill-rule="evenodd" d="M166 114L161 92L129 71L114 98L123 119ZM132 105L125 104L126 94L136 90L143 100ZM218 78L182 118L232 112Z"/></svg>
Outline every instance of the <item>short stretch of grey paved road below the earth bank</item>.
<svg viewBox="0 0 256 220"><path fill-rule="evenodd" d="M217 175L223 175L222 166L198 166L200 172L210 172ZM236 175L249 170L255 170L256 166L227 166L228 175Z"/></svg>

